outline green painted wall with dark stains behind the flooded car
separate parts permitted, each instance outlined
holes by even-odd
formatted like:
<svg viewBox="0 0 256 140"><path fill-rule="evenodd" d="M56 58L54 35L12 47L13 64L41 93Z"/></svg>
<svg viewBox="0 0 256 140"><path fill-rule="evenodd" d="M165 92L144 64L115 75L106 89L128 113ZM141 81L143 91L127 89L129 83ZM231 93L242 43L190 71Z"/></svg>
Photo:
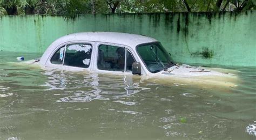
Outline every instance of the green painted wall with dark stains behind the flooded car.
<svg viewBox="0 0 256 140"><path fill-rule="evenodd" d="M0 17L0 51L43 53L60 36L86 31L158 39L181 63L256 66L256 12Z"/></svg>

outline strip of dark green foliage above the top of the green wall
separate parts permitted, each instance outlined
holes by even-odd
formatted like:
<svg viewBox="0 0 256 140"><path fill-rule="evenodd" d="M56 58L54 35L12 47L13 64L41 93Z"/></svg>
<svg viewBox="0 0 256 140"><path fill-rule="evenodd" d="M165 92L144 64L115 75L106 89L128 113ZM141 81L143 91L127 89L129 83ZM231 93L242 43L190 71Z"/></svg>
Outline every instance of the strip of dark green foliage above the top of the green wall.
<svg viewBox="0 0 256 140"><path fill-rule="evenodd" d="M25 10L30 8L33 14L75 15L111 12L244 11L255 9L256 0L0 0L0 5L6 11L9 10L9 13L15 9L19 13L26 13ZM0 7L0 14L6 13L3 11Z"/></svg>

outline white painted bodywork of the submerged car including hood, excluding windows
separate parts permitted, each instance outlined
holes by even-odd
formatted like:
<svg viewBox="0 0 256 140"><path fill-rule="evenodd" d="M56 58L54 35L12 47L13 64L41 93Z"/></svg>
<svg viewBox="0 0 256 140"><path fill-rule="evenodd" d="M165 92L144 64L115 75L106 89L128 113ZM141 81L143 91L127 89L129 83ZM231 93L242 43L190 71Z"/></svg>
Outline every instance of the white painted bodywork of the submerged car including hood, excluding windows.
<svg viewBox="0 0 256 140"><path fill-rule="evenodd" d="M218 72L214 70L208 70L206 68L191 67L190 65L185 65L185 64L172 65L170 68L161 70L156 73L150 72L150 70L147 68L146 64L142 60L142 57L138 54L138 51L136 50L136 48L139 45L143 45L146 43L154 43L154 42L158 42L158 41L156 39L153 39L147 36L128 34L128 33L85 32L85 33L69 34L54 41L48 47L48 49L46 49L40 61L35 62L34 64L39 64L43 69L59 69L59 70L66 70L66 71L89 71L89 72L99 72L99 73L116 73L116 74L132 75L131 71L125 71L125 70L109 71L109 70L98 69L97 61L99 57L98 55L99 46L110 45L110 46L122 47L122 48L125 48L125 50L126 49L130 50L130 53L133 55L134 60L140 63L141 75L143 76L160 77L160 78L169 77L169 79L181 79L181 80L186 80L187 82L197 81L197 83L208 82L208 83L213 83L214 85L222 84L222 85L227 85L232 87L235 86L233 83L230 84L231 80L228 80L228 82L224 80L226 78L233 78L233 79L235 78L235 76L231 75L230 73L227 73L227 72L223 73L223 72ZM88 63L88 62L90 63L88 68L71 67L69 65L51 63L50 60L58 49L60 49L63 46L67 46L74 43L86 43L91 45L91 47L89 46L89 48L87 48L87 49L92 49L91 58L83 60L83 63ZM86 49L86 46L84 49ZM86 53L86 50L83 50L83 51ZM63 56L60 56L60 57L63 57ZM218 79L217 77L220 77L220 79L217 80ZM211 78L216 81L210 82L209 79Z"/></svg>

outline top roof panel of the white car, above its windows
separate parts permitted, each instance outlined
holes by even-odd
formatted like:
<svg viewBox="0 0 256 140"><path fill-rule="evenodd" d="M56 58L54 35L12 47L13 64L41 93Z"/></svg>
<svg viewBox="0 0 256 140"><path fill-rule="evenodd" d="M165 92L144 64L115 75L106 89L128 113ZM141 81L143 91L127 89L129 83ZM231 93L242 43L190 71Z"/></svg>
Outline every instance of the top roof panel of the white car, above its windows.
<svg viewBox="0 0 256 140"><path fill-rule="evenodd" d="M147 36L129 33L84 32L65 35L56 41L97 41L136 47L139 44L156 42L157 40Z"/></svg>

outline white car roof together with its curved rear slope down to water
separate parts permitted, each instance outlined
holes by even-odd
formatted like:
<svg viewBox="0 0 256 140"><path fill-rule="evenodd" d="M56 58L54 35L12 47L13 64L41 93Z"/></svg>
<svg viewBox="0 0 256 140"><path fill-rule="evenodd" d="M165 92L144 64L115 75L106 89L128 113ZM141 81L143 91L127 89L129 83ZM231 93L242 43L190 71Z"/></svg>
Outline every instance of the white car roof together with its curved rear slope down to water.
<svg viewBox="0 0 256 140"><path fill-rule="evenodd" d="M51 53L53 53L56 47L59 47L63 43L70 41L106 42L125 45L131 47L132 49L135 49L137 45L140 45L142 43L156 42L157 40L143 35L117 32L83 32L69 34L54 41L45 50L43 56L41 57L40 63L42 65L45 65L49 56L51 55Z"/></svg>

